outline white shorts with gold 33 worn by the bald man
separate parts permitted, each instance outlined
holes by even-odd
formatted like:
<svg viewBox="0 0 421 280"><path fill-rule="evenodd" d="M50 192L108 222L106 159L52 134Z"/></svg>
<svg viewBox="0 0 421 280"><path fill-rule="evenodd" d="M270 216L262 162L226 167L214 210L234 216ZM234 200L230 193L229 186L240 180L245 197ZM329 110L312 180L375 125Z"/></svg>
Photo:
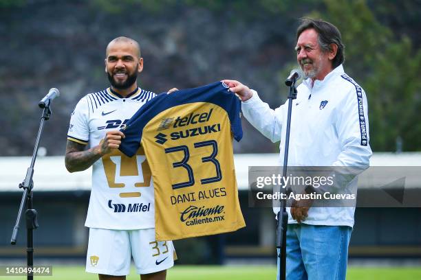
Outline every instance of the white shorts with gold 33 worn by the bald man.
<svg viewBox="0 0 421 280"><path fill-rule="evenodd" d="M155 241L155 229L89 229L87 272L129 275L132 256L140 275L171 268L176 259L173 242Z"/></svg>

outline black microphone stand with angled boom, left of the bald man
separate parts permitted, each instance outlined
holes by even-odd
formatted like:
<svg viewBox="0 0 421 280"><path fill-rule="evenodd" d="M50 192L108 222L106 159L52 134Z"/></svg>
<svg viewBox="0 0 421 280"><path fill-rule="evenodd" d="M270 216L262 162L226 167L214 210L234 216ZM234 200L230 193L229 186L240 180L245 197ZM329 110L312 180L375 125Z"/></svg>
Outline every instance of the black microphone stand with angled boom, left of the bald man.
<svg viewBox="0 0 421 280"><path fill-rule="evenodd" d="M34 153L32 154L32 161L31 161L30 167L28 167L23 183L19 184L19 188L23 189L23 195L22 195L22 200L21 200L21 206L19 207L17 221L13 228L12 240L10 240L10 244L16 245L17 235L19 231L19 224L21 223L21 215L22 215L23 207L26 201L26 211L25 211L25 220L26 220L26 229L27 229L26 252L27 252L27 265L28 267L31 267L31 268L34 265L33 231L34 229L38 228L38 220L37 220L38 213L36 212L35 209L32 209L32 188L34 187L34 182L32 180L32 177L34 176L34 165L35 165L35 160L36 160L36 154L38 153L39 141L41 139L41 134L44 128L44 121L47 121L48 119L50 119L50 115L52 113L50 110L50 100L48 100L44 104L44 106L42 106L41 108L43 108L43 114L41 115L41 124L39 126L38 135L36 136ZM30 270L28 270L27 279L28 280L34 279L33 272Z"/></svg>

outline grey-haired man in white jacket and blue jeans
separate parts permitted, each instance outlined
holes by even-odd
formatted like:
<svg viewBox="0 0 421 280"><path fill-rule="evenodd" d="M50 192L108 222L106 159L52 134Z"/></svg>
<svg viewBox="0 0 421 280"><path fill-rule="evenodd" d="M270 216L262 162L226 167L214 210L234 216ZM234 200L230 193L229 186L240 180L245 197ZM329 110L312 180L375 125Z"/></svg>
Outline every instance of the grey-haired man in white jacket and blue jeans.
<svg viewBox="0 0 421 280"><path fill-rule="evenodd" d="M371 156L367 98L343 70L341 33L332 23L303 19L295 50L305 80L292 104L288 165L367 168ZM273 142L281 141L282 165L288 102L272 110L248 86L224 82L241 98L246 119ZM356 183L354 178L347 187ZM312 186L305 191L318 192ZM312 203L294 201L287 209L287 279L345 279L355 208L312 207Z"/></svg>

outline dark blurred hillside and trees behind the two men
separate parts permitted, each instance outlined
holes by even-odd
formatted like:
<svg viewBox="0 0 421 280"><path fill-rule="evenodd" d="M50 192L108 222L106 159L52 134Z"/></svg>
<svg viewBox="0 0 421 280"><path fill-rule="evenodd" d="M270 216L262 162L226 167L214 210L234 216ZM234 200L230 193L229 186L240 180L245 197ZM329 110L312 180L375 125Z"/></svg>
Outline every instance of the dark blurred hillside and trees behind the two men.
<svg viewBox="0 0 421 280"><path fill-rule="evenodd" d="M299 3L297 3L299 2ZM69 115L83 95L108 86L105 47L116 36L140 42L140 86L160 93L237 79L272 108L283 104L296 68L302 16L330 21L345 43L345 71L369 100L375 152L421 150L421 1L387 0L1 0L0 155L32 154L50 87L61 90L41 145L61 155ZM235 152L277 152L243 121ZM292 139L293 141L293 139Z"/></svg>

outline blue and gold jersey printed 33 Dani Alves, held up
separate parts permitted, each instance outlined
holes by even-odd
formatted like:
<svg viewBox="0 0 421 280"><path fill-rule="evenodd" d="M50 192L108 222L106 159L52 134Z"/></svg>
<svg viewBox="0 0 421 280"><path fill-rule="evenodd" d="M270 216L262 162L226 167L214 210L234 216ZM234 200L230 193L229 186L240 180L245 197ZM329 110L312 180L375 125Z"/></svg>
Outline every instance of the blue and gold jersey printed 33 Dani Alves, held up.
<svg viewBox="0 0 421 280"><path fill-rule="evenodd" d="M155 187L155 237L177 240L245 226L233 137L242 137L240 102L222 82L162 94L123 128L120 150L142 144Z"/></svg>

